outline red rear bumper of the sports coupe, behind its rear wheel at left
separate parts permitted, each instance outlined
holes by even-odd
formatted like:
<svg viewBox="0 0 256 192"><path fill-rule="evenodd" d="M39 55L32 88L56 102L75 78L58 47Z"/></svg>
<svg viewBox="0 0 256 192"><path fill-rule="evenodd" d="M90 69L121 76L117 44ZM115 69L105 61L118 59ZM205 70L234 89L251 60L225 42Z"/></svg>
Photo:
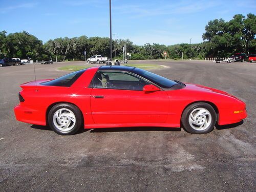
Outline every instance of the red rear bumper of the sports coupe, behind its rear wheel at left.
<svg viewBox="0 0 256 192"><path fill-rule="evenodd" d="M25 123L46 125L46 109L34 106L23 106L18 104L14 108L14 113L18 121Z"/></svg>

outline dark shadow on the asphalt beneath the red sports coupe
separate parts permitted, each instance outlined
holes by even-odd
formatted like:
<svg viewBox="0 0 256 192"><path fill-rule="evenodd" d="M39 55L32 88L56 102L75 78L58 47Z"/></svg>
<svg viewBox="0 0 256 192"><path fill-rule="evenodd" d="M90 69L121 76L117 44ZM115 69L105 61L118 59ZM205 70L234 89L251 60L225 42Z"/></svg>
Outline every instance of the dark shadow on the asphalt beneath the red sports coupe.
<svg viewBox="0 0 256 192"><path fill-rule="evenodd" d="M217 130L225 130L237 127L243 124L244 121L240 121L238 123L228 124L228 125L216 125ZM31 125L33 129L37 130L46 130L52 131L49 126L42 126L42 125ZM103 132L138 132L138 131L165 131L165 132L177 132L181 131L181 128L174 128L174 127L112 127L112 128L101 128L101 129L80 129L77 134L88 132L90 133L103 133Z"/></svg>

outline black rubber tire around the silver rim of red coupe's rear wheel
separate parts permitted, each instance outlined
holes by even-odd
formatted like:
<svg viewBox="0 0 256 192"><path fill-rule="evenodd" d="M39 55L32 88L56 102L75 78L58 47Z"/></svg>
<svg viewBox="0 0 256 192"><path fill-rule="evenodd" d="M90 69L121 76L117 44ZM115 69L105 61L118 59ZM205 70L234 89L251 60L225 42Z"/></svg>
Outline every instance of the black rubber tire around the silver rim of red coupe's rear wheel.
<svg viewBox="0 0 256 192"><path fill-rule="evenodd" d="M55 126L54 124L54 114L55 112L57 112L58 110L62 109L63 113L61 114L62 116L66 114L65 110L71 111L74 115L75 115L75 123L74 125L72 124L72 129L68 130L68 131L62 131L60 129L58 129L58 127ZM68 113L67 113L68 114ZM66 118L66 116L63 116ZM67 116L68 118L68 116ZM56 121L56 120L55 120ZM66 120L65 120L66 121ZM68 119L67 119L68 121ZM63 121L62 121L63 122ZM73 121L70 120L71 123L73 123ZM59 122L60 123L60 122ZM66 122L67 123L67 122ZM80 129L81 125L82 125L82 113L81 111L77 108L76 105L74 104L70 104L70 103L59 103L56 104L52 107L52 109L49 111L48 114L48 124L51 127L51 129L59 134L59 135L73 135L76 134L78 132L78 130ZM64 126L64 125L63 125Z"/></svg>

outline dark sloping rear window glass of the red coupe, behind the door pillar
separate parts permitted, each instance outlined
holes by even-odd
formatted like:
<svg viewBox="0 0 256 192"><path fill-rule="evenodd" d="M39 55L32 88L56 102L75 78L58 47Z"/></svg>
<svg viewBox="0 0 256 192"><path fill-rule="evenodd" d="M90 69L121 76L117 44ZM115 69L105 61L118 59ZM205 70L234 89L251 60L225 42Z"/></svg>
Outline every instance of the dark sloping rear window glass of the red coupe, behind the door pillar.
<svg viewBox="0 0 256 192"><path fill-rule="evenodd" d="M40 83L43 86L70 87L83 74L86 69L69 73L57 79Z"/></svg>

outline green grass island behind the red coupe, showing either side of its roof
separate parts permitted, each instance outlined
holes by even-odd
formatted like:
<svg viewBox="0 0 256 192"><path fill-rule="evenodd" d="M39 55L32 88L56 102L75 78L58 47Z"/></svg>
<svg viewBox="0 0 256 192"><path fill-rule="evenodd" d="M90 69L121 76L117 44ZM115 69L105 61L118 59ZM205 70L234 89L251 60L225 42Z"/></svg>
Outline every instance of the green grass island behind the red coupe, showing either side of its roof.
<svg viewBox="0 0 256 192"><path fill-rule="evenodd" d="M131 67L136 67L136 68L141 68L141 69L157 69L157 68L162 68L162 66L156 65L156 64L151 64L151 63L141 63L141 64L127 64L127 66ZM81 69L86 69L93 67L92 65L84 65L84 66L63 66L58 68L58 70L64 70L64 71L78 71Z"/></svg>

